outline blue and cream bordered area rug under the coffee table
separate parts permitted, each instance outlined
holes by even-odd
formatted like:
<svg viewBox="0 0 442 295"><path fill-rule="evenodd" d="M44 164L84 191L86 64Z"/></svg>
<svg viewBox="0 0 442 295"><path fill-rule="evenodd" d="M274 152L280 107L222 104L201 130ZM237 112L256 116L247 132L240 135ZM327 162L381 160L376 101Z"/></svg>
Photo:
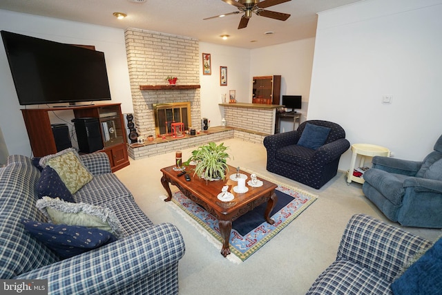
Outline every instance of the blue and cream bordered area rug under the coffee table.
<svg viewBox="0 0 442 295"><path fill-rule="evenodd" d="M274 180L270 181L278 184ZM233 221L229 242L231 254L227 256L229 260L241 263L249 258L318 198L308 191L290 188L284 184L278 184L276 195L278 202L271 211L271 219L275 221L273 225L269 225L264 218L267 202ZM180 191L173 193L172 201L176 204L173 208L218 247L218 251L221 251L222 237L218 219Z"/></svg>

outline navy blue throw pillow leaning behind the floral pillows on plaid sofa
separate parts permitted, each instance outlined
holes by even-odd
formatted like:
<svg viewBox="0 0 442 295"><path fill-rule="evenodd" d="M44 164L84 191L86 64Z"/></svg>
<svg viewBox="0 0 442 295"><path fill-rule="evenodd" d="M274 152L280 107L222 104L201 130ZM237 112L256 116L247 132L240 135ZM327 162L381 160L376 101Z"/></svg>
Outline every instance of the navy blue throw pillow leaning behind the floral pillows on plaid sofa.
<svg viewBox="0 0 442 295"><path fill-rule="evenodd" d="M59 197L66 202L75 203L72 193L70 193L64 182L61 180L57 171L50 166L44 167L43 171L41 171L40 179L37 184L37 195L40 198L44 196L50 198Z"/></svg>

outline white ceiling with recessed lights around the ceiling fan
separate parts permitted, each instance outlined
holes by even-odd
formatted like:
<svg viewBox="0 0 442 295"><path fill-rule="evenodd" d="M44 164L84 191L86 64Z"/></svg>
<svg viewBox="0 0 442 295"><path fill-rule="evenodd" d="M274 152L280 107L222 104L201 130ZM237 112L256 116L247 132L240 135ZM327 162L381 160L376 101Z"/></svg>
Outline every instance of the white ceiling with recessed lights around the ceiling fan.
<svg viewBox="0 0 442 295"><path fill-rule="evenodd" d="M241 30L238 30L241 14L203 20L238 11L222 0L146 0L144 3L134 0L1 0L0 9L113 28L165 32L213 44L259 48L314 37L317 12L358 1L361 0L291 0L266 8L290 14L287 21L253 14L247 28ZM124 12L128 17L118 20L113 12ZM224 41L220 35L231 37Z"/></svg>

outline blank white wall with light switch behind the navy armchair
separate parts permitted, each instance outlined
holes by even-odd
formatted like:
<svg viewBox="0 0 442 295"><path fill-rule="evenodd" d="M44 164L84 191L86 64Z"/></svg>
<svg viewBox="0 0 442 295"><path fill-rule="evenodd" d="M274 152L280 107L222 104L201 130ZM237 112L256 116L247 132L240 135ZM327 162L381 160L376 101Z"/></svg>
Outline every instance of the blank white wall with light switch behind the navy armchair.
<svg viewBox="0 0 442 295"><path fill-rule="evenodd" d="M309 120L337 122L352 144L422 160L442 133L441 15L441 0L371 0L320 13ZM392 104L381 104L383 95Z"/></svg>

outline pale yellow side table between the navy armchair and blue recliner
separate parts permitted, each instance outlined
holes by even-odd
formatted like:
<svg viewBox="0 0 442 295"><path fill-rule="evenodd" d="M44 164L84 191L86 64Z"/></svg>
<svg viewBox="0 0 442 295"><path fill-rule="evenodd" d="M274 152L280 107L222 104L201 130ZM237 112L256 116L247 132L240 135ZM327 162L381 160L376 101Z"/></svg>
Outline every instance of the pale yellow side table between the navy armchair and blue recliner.
<svg viewBox="0 0 442 295"><path fill-rule="evenodd" d="M361 155L361 164L360 166L364 166L365 156L374 157L375 155L381 155L385 157L390 157L390 150L383 146L376 146L374 144L352 144L352 162L350 163L350 169L347 171L347 184L350 184L352 181L358 183L364 183L364 179L361 177L356 177L353 175L354 165L356 164L357 155Z"/></svg>

